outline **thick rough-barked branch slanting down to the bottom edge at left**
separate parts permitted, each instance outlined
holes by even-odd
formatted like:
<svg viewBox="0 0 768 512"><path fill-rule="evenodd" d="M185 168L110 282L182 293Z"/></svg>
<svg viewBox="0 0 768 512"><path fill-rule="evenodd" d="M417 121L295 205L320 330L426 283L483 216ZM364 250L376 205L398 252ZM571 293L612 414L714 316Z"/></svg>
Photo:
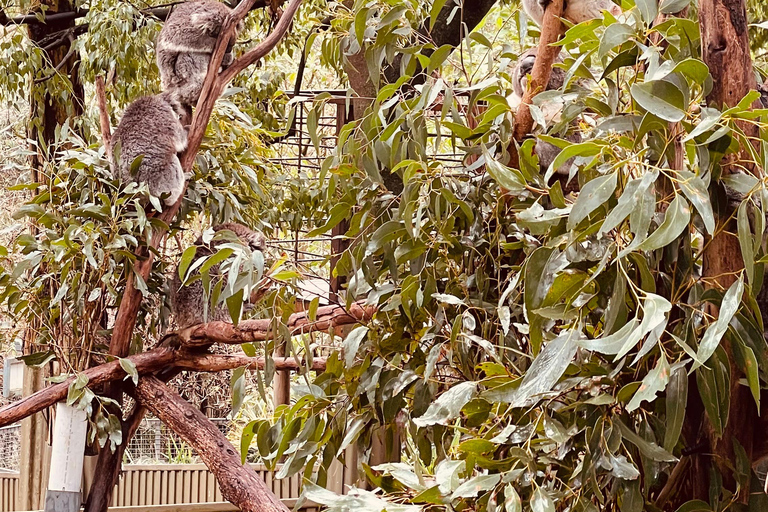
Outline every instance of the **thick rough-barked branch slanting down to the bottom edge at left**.
<svg viewBox="0 0 768 512"><path fill-rule="evenodd" d="M140 379L135 394L139 403L197 451L216 477L224 499L245 512L288 512L202 412L155 377Z"/></svg>

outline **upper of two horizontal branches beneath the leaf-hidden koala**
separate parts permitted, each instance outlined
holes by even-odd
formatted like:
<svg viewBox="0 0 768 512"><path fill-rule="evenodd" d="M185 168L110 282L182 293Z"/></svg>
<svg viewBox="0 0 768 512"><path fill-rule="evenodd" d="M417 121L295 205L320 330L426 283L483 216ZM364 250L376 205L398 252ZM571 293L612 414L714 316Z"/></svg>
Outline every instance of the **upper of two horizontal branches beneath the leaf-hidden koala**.
<svg viewBox="0 0 768 512"><path fill-rule="evenodd" d="M315 320L310 320L306 312L291 315L287 327L292 336L322 332L340 325L367 322L373 318L375 312L374 306L364 306L361 302L353 303L348 310L344 306L324 306L318 308ZM188 327L175 336L187 347L202 347L211 343L239 345L266 341L273 337L272 319L244 320L237 327L228 322L209 322Z"/></svg>

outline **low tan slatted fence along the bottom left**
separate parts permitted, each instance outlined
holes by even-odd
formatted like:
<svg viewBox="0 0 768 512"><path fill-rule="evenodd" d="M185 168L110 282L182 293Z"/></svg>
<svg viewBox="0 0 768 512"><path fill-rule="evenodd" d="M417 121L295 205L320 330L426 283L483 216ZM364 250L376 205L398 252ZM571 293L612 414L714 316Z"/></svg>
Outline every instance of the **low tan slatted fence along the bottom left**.
<svg viewBox="0 0 768 512"><path fill-rule="evenodd" d="M266 482L267 487L290 508L301 495L301 474L278 480L266 467L251 467ZM334 462L328 472L328 489L343 493L357 480L355 468ZM0 473L0 512L18 510L19 474ZM112 495L113 512L216 512L237 510L224 503L216 479L203 464L126 464ZM305 512L317 512L314 504L301 507Z"/></svg>

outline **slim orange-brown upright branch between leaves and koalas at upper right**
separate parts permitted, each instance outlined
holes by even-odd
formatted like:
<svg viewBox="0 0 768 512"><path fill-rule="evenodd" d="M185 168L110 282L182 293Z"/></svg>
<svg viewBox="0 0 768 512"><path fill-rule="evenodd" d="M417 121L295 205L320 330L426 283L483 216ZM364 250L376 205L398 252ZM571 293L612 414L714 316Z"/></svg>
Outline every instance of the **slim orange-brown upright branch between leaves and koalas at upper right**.
<svg viewBox="0 0 768 512"><path fill-rule="evenodd" d="M547 5L544 12L544 23L541 28L541 38L539 39L539 51L536 54L536 61L531 70L531 81L528 90L525 91L520 106L515 114L515 126L513 137L515 142L510 144L510 167L515 169L520 167L520 155L517 152L516 143L522 142L533 130L533 117L531 116L530 105L533 97L547 88L549 77L552 73L552 65L560 53L559 46L553 46L563 34L563 23L560 18L563 16L563 0L552 0Z"/></svg>

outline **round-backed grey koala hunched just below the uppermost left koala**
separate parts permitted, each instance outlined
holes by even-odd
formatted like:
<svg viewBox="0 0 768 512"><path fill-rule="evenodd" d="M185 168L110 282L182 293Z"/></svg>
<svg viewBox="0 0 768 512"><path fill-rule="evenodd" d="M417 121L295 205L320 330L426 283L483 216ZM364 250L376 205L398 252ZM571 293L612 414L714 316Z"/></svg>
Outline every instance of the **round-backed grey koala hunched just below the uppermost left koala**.
<svg viewBox="0 0 768 512"><path fill-rule="evenodd" d="M168 206L184 193L178 154L187 147L184 111L168 93L144 96L128 105L110 144L112 170L122 182L147 183ZM141 161L133 169L138 157Z"/></svg>

